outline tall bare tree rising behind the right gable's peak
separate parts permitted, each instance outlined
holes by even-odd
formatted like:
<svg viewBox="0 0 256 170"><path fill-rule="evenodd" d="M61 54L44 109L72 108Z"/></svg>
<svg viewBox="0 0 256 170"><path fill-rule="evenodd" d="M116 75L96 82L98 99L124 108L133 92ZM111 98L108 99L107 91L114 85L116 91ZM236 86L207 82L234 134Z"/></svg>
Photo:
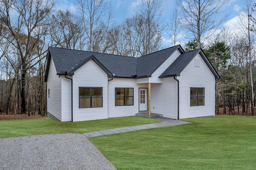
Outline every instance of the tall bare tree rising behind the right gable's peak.
<svg viewBox="0 0 256 170"><path fill-rule="evenodd" d="M180 8L182 27L187 30L191 39L195 39L198 48L228 16L217 16L222 6L229 0L176 0Z"/></svg>

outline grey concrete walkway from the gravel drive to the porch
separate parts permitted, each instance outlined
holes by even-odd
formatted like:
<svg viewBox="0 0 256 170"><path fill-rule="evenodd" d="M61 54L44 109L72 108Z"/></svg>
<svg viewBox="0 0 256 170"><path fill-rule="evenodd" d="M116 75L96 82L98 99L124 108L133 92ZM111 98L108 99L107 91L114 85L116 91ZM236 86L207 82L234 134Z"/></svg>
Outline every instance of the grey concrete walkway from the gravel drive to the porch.
<svg viewBox="0 0 256 170"><path fill-rule="evenodd" d="M158 127L167 127L167 126L183 125L183 124L190 123L187 121L169 119L167 117L160 117L160 116L156 116L154 117L154 119L157 119L163 122L146 124L146 125L136 125L136 126L130 126L130 127L120 127L115 129L105 129L100 131L83 133L83 135L86 137L97 137L102 135L111 135L115 133L123 133L123 132L138 131L143 129L152 129L152 128L158 128Z"/></svg>

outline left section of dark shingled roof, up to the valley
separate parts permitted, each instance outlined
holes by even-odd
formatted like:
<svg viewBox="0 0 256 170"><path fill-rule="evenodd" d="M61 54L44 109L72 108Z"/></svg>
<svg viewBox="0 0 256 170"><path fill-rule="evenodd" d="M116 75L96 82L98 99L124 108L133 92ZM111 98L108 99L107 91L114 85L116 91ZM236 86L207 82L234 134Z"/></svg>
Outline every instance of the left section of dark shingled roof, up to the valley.
<svg viewBox="0 0 256 170"><path fill-rule="evenodd" d="M110 72L118 77L131 77L131 75L134 75L136 72L137 59L134 57L49 47L45 80L47 81L51 57L56 67L57 74L73 75L74 71L85 64L87 62L86 59L91 56L93 56L94 60L96 59L99 62L97 64L101 68L102 66L105 67L105 69L102 68L102 70L106 73Z"/></svg>

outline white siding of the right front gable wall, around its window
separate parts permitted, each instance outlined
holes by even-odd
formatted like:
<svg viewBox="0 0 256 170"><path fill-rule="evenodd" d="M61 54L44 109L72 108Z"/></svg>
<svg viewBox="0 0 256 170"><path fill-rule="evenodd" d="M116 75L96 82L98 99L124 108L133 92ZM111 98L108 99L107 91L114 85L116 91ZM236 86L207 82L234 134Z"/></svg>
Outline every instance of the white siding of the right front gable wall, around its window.
<svg viewBox="0 0 256 170"><path fill-rule="evenodd" d="M200 67L195 66L200 61ZM180 119L215 115L215 78L198 54L178 76L180 81ZM204 106L190 106L190 88L204 88Z"/></svg>

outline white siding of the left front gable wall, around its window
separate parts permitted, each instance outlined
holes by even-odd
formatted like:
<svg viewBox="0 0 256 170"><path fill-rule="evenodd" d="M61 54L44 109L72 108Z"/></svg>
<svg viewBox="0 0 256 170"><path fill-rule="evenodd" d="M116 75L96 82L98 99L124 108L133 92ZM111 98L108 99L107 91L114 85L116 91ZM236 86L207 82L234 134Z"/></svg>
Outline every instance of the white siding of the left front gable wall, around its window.
<svg viewBox="0 0 256 170"><path fill-rule="evenodd" d="M102 107L79 108L79 87L102 87ZM73 76L73 121L108 118L107 89L108 76L90 60L80 67Z"/></svg>

